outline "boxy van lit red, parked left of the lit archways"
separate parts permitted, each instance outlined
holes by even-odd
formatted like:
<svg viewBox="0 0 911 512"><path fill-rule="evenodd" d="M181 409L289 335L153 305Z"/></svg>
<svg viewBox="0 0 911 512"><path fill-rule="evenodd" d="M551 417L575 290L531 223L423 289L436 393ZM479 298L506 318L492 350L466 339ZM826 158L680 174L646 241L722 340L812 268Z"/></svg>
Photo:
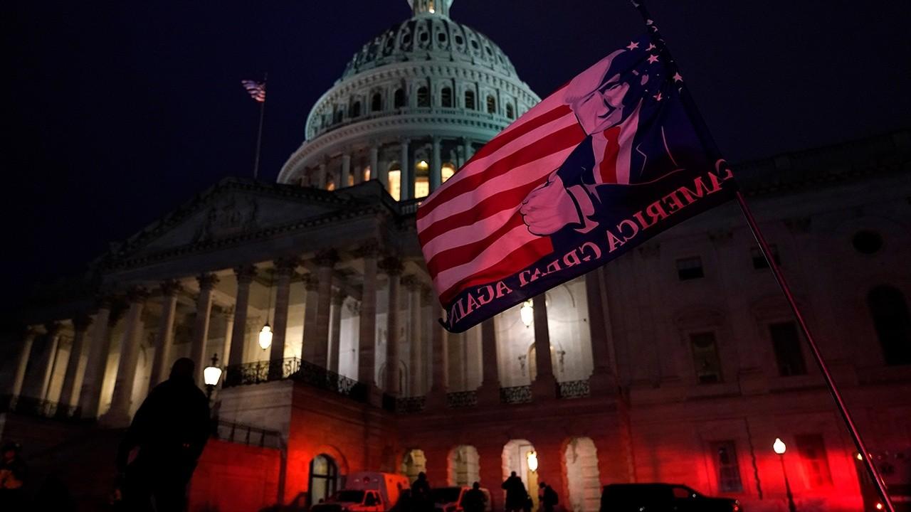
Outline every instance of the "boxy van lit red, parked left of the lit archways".
<svg viewBox="0 0 911 512"><path fill-rule="evenodd" d="M345 488L310 509L312 512L388 512L408 488L408 478L402 475L352 473Z"/></svg>

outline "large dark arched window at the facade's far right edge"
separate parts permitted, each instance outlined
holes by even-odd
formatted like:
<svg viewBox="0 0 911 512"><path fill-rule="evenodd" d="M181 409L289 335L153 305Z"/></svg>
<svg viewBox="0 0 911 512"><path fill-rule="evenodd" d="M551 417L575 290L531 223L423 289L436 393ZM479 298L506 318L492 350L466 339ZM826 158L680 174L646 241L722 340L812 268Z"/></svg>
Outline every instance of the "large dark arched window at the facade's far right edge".
<svg viewBox="0 0 911 512"><path fill-rule="evenodd" d="M885 364L911 364L911 316L905 296L891 286L879 286L866 296Z"/></svg>

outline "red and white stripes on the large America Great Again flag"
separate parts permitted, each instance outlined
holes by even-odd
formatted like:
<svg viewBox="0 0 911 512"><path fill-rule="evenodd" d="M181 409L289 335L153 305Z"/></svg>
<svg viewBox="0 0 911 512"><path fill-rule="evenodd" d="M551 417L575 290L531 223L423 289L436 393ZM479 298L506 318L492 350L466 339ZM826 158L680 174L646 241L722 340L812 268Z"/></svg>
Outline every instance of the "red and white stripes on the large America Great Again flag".
<svg viewBox="0 0 911 512"><path fill-rule="evenodd" d="M553 251L519 214L585 137L560 89L480 148L417 210L417 233L440 301L496 282Z"/></svg>

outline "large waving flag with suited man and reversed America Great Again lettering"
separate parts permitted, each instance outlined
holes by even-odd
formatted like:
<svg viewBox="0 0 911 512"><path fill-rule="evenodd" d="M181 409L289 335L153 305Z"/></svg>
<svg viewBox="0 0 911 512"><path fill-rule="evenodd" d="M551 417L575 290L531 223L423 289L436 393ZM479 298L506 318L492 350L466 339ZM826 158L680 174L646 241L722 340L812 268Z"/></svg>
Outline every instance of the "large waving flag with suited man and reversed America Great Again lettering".
<svg viewBox="0 0 911 512"><path fill-rule="evenodd" d="M573 78L480 148L417 210L455 333L729 200L682 77L648 38Z"/></svg>

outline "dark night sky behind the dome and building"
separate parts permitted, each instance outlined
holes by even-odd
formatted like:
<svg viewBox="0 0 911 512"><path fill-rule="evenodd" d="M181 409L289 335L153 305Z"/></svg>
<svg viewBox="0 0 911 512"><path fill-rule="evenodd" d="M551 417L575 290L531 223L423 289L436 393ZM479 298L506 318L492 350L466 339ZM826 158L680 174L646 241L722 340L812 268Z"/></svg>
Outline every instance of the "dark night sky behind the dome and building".
<svg viewBox="0 0 911 512"><path fill-rule="evenodd" d="M307 112L405 0L4 2L3 249L15 300L78 271L226 176L250 176L269 72L261 179ZM911 123L911 2L652 0L732 161ZM541 97L642 32L626 0L456 0Z"/></svg>

